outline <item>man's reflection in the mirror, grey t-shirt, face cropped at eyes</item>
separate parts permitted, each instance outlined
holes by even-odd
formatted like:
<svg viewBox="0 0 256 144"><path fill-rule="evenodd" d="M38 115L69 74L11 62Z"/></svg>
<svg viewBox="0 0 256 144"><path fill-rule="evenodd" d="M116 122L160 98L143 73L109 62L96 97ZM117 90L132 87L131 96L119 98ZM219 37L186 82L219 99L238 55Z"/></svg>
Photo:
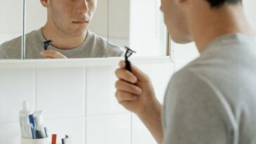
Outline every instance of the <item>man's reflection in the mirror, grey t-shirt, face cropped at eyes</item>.
<svg viewBox="0 0 256 144"><path fill-rule="evenodd" d="M26 58L100 58L121 56L119 46L87 30L97 0L41 0L47 8L47 22L26 35ZM44 50L43 41L53 43ZM20 58L21 38L0 46L0 58Z"/></svg>

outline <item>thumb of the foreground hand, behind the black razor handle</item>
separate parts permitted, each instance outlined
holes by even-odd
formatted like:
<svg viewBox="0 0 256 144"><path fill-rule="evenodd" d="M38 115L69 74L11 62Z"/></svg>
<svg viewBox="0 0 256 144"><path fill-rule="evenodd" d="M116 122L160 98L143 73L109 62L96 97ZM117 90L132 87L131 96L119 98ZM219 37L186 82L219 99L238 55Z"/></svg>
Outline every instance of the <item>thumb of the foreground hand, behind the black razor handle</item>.
<svg viewBox="0 0 256 144"><path fill-rule="evenodd" d="M121 68L125 68L126 63L124 62L124 60L122 60L122 61L120 61L119 65L120 65ZM139 81L141 81L141 82L148 82L149 81L149 78L148 78L147 74L145 74L144 72L139 70L139 68L136 67L135 65L133 65L131 62L130 62L130 65L131 65L131 69L132 69L132 74L134 74L135 77L137 77L137 79Z"/></svg>

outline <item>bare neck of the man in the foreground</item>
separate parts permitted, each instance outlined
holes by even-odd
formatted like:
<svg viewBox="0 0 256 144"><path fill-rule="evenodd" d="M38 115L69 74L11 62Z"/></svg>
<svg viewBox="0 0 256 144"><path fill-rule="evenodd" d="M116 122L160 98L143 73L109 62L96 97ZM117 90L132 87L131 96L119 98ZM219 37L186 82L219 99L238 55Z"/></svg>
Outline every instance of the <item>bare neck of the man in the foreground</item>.
<svg viewBox="0 0 256 144"><path fill-rule="evenodd" d="M225 5L222 8L212 9L209 13L200 11L198 15L192 15L189 22L191 23L191 36L200 53L213 39L224 34L254 35L240 5Z"/></svg>

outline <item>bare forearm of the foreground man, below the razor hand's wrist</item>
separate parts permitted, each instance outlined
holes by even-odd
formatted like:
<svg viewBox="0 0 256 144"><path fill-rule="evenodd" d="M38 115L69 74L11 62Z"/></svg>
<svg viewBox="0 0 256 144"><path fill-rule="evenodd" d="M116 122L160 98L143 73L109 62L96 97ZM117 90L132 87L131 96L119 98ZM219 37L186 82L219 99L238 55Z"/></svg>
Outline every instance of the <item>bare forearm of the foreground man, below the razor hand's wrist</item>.
<svg viewBox="0 0 256 144"><path fill-rule="evenodd" d="M155 106L143 114L137 114L159 144L162 143L163 139L161 113L162 105L157 102Z"/></svg>

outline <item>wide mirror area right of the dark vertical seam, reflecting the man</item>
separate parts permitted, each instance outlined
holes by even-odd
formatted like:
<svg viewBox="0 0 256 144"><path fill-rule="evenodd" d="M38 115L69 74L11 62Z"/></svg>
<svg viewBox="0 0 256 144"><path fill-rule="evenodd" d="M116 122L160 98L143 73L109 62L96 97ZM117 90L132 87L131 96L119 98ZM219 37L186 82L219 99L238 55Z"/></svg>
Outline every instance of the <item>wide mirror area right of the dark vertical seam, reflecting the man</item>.
<svg viewBox="0 0 256 144"><path fill-rule="evenodd" d="M26 1L25 59L119 57L124 46L134 56L166 55L159 8L155 0Z"/></svg>

